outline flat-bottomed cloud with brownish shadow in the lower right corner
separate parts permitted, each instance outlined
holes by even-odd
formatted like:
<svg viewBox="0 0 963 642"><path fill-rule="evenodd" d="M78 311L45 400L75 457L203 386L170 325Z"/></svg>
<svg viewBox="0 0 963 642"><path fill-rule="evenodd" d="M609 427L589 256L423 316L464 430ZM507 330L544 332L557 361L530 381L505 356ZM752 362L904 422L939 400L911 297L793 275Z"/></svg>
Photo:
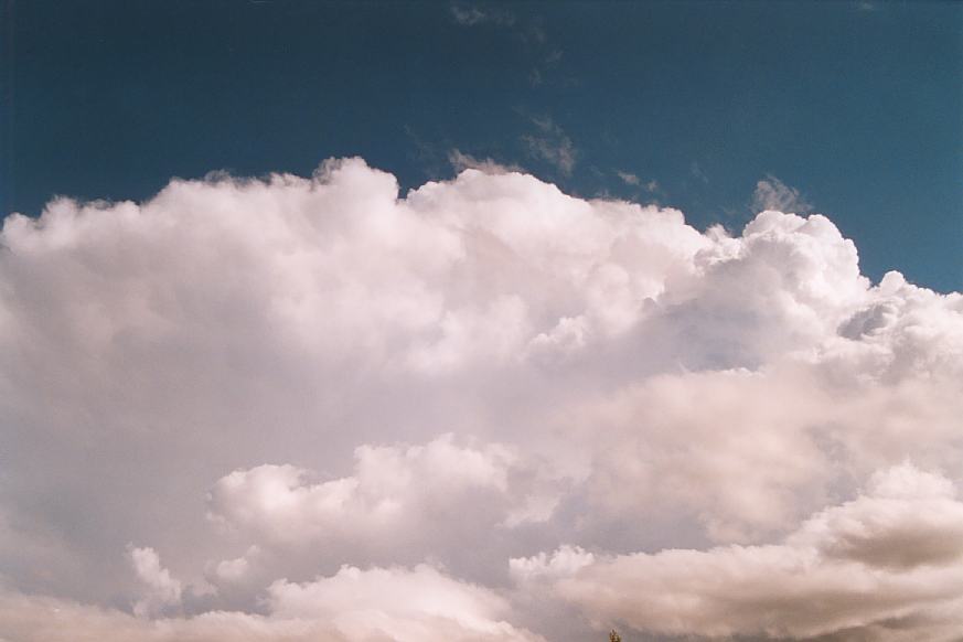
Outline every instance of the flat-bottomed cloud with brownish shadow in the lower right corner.
<svg viewBox="0 0 963 642"><path fill-rule="evenodd" d="M654 633L950 640L963 625L945 620L963 603L961 556L952 484L902 466L781 544L611 557L557 590L591 618Z"/></svg>

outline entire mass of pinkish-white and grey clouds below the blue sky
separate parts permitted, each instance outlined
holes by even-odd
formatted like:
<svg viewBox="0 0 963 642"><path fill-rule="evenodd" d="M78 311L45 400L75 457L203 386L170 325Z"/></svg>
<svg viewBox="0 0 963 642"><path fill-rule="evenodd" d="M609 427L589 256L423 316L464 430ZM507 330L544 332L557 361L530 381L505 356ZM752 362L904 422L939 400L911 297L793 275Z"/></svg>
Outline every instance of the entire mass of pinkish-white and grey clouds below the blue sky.
<svg viewBox="0 0 963 642"><path fill-rule="evenodd" d="M6 220L0 638L959 635L963 297L471 160Z"/></svg>

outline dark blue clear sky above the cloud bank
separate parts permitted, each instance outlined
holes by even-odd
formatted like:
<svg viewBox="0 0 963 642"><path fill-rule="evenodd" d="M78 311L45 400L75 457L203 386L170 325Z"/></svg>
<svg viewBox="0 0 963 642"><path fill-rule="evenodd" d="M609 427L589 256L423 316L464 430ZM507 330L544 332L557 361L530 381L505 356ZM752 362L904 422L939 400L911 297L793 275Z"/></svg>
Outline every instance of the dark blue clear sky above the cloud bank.
<svg viewBox="0 0 963 642"><path fill-rule="evenodd" d="M408 188L458 149L699 227L738 229L772 175L873 278L963 288L961 3L7 0L2 20L4 213L332 156Z"/></svg>

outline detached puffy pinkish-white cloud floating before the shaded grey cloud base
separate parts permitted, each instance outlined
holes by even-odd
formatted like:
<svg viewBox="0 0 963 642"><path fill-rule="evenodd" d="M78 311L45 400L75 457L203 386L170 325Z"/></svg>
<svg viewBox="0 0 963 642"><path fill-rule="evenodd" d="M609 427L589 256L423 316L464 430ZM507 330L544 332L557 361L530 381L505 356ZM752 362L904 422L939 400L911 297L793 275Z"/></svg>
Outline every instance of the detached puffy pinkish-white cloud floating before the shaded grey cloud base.
<svg viewBox="0 0 963 642"><path fill-rule="evenodd" d="M470 535L548 518L554 497L523 479L532 467L521 464L510 448L462 447L450 434L424 446L361 446L351 477L310 483L308 471L290 464L234 471L214 484L208 510L214 520L280 546L413 547L426 538L458 539L452 529ZM471 514L438 521L467 505ZM539 505L545 510L533 509ZM436 527L425 529L432 520Z"/></svg>

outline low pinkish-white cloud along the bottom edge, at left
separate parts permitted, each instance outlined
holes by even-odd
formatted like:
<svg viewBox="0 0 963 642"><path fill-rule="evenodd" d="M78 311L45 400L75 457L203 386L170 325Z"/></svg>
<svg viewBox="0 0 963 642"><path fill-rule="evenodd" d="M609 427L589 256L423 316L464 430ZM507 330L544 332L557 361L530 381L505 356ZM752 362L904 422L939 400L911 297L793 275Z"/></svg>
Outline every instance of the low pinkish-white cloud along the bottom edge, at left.
<svg viewBox="0 0 963 642"><path fill-rule="evenodd" d="M502 620L507 602L437 569L342 567L331 577L267 589L266 614L210 611L149 620L66 600L0 593L0 634L23 642L312 641L539 642Z"/></svg>

